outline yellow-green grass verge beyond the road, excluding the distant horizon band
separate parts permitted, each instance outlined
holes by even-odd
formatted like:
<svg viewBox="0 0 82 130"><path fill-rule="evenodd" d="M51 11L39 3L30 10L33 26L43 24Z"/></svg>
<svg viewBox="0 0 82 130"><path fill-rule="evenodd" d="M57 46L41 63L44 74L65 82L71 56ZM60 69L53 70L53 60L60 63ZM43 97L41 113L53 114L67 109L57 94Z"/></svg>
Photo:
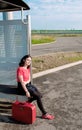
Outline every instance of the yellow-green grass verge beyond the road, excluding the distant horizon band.
<svg viewBox="0 0 82 130"><path fill-rule="evenodd" d="M81 33L78 34L71 34L71 33L51 33L51 34L32 34L32 44L44 44L44 43L50 43L54 42L56 40L56 37L82 37Z"/></svg>

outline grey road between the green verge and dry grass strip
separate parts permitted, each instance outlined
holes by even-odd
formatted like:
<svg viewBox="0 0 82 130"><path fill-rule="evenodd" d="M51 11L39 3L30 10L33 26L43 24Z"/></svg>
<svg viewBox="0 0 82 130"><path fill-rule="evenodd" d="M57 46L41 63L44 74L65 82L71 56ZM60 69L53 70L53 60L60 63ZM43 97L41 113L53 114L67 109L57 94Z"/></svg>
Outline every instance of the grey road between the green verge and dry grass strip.
<svg viewBox="0 0 82 130"><path fill-rule="evenodd" d="M82 37L57 37L54 43L32 45L32 56L44 55L55 52L81 52Z"/></svg>

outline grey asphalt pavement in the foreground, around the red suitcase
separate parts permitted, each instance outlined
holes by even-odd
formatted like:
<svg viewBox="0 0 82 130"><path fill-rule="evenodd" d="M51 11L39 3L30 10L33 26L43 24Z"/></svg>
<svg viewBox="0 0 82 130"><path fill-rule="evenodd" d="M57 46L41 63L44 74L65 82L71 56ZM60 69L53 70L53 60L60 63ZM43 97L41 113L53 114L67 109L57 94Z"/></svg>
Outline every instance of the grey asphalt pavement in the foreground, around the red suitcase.
<svg viewBox="0 0 82 130"><path fill-rule="evenodd" d="M43 120L37 107L32 125L14 122L9 115L0 115L1 130L82 130L82 63L53 71L33 80L43 94L46 110L54 120Z"/></svg>

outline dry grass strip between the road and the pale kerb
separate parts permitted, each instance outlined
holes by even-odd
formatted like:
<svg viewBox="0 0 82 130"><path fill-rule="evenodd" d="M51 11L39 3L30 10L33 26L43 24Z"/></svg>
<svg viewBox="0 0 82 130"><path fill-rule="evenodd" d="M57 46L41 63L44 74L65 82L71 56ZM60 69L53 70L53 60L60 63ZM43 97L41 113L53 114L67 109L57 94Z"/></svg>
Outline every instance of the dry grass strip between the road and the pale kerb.
<svg viewBox="0 0 82 130"><path fill-rule="evenodd" d="M61 65L82 60L82 52L59 52L32 58L32 71L37 73Z"/></svg>

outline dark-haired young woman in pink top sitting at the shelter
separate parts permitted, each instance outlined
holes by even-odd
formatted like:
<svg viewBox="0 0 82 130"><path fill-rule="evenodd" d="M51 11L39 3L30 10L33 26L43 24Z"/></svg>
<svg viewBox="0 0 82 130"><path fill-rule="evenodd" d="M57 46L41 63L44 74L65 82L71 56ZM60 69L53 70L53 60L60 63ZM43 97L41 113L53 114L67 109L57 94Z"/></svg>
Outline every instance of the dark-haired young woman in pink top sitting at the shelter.
<svg viewBox="0 0 82 130"><path fill-rule="evenodd" d="M31 64L31 56L25 55L19 63L19 67L17 68L17 83L18 83L18 93L26 95L28 97L28 102L32 102L34 100L37 101L37 105L42 112L43 119L54 119L54 116L48 114L42 104L41 98L42 95L38 91L38 89L31 84L30 79L30 64Z"/></svg>

